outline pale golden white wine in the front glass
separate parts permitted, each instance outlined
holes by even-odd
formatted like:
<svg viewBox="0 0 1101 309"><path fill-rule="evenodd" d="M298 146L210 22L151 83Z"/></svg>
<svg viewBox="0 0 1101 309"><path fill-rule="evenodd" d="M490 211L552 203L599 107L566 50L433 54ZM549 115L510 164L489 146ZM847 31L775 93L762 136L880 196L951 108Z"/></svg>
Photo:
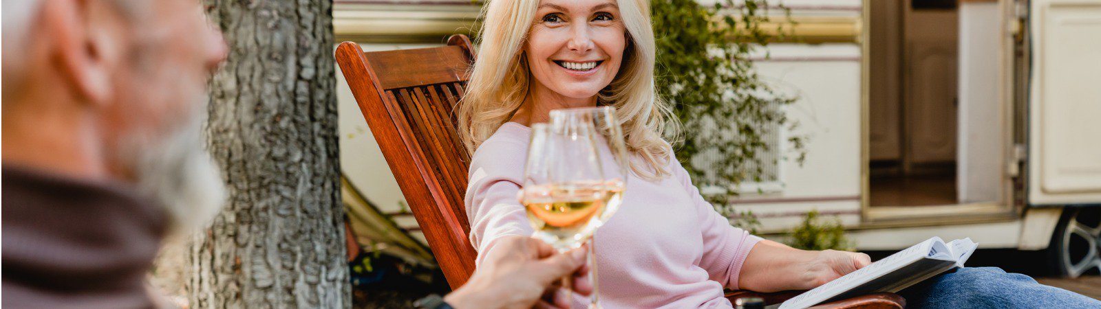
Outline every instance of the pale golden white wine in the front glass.
<svg viewBox="0 0 1101 309"><path fill-rule="evenodd" d="M534 186L524 188L523 203L535 236L565 250L580 246L600 227L606 196L596 184Z"/></svg>

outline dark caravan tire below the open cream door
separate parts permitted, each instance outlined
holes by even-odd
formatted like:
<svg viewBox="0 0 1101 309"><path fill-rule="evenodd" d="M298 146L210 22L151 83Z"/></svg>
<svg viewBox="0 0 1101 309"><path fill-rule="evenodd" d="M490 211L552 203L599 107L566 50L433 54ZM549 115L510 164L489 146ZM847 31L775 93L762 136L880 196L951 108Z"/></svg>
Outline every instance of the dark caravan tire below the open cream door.
<svg viewBox="0 0 1101 309"><path fill-rule="evenodd" d="M1101 274L1101 207L1064 209L1048 251L1056 275Z"/></svg>

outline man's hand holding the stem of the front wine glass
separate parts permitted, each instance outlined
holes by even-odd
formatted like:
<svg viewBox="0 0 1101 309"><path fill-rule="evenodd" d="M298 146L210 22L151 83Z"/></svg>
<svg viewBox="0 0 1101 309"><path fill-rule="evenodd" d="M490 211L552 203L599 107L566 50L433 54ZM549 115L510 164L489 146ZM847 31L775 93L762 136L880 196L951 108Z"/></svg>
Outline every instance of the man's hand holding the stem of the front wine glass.
<svg viewBox="0 0 1101 309"><path fill-rule="evenodd" d="M585 265L586 247L564 254L543 241L524 236L497 240L470 280L444 297L456 309L569 308L560 278L573 275L574 290L588 295L592 285Z"/></svg>

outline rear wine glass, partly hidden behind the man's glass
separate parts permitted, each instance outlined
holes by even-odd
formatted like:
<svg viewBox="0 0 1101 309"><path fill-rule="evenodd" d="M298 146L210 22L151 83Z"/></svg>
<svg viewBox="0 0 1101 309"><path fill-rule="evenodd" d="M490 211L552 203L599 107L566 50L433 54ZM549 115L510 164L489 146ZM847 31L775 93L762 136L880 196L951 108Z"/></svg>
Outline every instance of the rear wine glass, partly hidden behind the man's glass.
<svg viewBox="0 0 1101 309"><path fill-rule="evenodd" d="M623 129L612 107L574 108L550 111L552 123L591 123L597 139L598 154L603 163L604 189L607 191L600 221L607 222L623 202L623 191L630 173L630 154L623 141ZM589 279L592 280L592 296L589 308L599 309L600 289L597 284L596 238L589 239Z"/></svg>

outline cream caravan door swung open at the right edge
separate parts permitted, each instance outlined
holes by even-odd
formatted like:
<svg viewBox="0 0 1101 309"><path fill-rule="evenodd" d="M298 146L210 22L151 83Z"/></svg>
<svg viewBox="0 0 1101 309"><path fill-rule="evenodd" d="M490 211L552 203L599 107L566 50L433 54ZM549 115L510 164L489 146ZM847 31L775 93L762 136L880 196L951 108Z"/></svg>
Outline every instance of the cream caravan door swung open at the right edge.
<svg viewBox="0 0 1101 309"><path fill-rule="evenodd" d="M1028 16L1028 203L1101 206L1101 0L1033 0Z"/></svg>

